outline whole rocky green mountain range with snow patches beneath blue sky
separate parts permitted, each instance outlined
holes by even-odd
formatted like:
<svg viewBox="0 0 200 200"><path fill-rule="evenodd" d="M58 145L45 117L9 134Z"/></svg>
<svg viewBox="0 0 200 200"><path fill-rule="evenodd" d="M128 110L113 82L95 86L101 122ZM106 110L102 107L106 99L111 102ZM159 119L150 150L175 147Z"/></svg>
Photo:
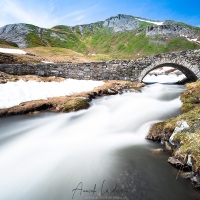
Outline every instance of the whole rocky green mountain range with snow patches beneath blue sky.
<svg viewBox="0 0 200 200"><path fill-rule="evenodd" d="M200 28L171 20L155 21L119 14L105 21L50 29L31 24L0 28L0 44L20 48L63 47L85 54L111 58L135 58L154 53L199 49Z"/></svg>

